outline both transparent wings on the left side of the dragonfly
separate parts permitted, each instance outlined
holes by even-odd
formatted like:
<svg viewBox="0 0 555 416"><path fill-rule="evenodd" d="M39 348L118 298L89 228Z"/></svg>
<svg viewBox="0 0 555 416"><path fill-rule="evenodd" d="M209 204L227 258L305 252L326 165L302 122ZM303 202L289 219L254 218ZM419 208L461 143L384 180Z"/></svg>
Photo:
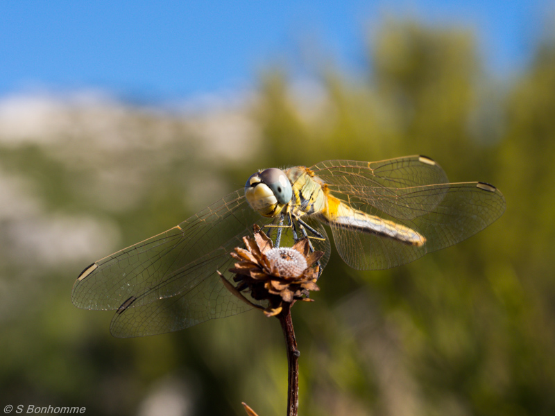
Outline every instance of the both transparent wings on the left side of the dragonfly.
<svg viewBox="0 0 555 416"><path fill-rule="evenodd" d="M225 290L216 270L229 279L229 253L243 244L243 236L252 234L253 224L269 221L248 206L242 190L235 191L167 232L96 261L78 277L71 300L83 309L118 310L114 322L121 320L130 327L165 325L152 333L239 313L248 305L239 304ZM164 302L170 297L176 299ZM181 302L182 313L171 325L144 312L176 302Z"/></svg>

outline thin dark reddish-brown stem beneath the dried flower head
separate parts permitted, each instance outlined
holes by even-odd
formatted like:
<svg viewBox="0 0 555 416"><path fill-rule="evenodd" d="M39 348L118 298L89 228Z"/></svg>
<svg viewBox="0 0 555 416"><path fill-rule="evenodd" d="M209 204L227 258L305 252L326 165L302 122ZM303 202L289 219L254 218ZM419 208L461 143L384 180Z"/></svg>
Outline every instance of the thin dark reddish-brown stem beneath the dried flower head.
<svg viewBox="0 0 555 416"><path fill-rule="evenodd" d="M289 389L287 393L287 416L297 416L299 408L299 363L300 352L297 349L297 340L291 320L291 305L283 303L283 309L278 315L282 325L285 343L287 343L287 364L289 365Z"/></svg>

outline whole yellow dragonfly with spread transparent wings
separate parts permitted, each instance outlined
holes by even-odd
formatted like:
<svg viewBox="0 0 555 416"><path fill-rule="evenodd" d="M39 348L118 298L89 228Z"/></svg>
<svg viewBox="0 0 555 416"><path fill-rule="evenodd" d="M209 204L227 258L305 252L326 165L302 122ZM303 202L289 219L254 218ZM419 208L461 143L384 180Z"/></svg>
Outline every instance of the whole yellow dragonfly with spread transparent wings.
<svg viewBox="0 0 555 416"><path fill-rule="evenodd" d="M232 277L230 252L254 225L275 245L309 238L311 250L325 253L321 269L331 251L325 225L348 266L382 270L467 239L505 207L493 185L449 183L441 166L419 155L268 168L179 225L87 266L71 300L81 309L116 311L116 337L178 331L252 308L216 270Z"/></svg>

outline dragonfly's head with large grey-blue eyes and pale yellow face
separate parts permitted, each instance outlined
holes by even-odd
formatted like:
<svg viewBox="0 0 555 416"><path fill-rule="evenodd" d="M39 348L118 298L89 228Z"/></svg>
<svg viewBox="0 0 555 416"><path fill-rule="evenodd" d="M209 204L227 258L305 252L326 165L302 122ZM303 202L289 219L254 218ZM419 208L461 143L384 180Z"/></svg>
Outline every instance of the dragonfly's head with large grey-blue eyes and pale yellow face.
<svg viewBox="0 0 555 416"><path fill-rule="evenodd" d="M293 189L284 171L269 168L248 178L245 196L255 211L262 216L273 217L291 200Z"/></svg>

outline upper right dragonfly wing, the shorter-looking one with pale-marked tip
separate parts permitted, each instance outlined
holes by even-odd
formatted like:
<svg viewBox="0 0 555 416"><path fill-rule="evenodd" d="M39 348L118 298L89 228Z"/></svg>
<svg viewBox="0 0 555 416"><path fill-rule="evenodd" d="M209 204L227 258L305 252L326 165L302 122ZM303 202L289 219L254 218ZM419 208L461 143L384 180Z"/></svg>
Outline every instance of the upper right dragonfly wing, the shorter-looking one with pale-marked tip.
<svg viewBox="0 0 555 416"><path fill-rule="evenodd" d="M425 156L407 156L380 162L327 160L310 168L326 184L334 196L348 205L370 204L395 218L411 219L420 215L419 206L431 209L443 199L436 192L412 196L407 205L402 198L405 189L448 182L445 171Z"/></svg>

